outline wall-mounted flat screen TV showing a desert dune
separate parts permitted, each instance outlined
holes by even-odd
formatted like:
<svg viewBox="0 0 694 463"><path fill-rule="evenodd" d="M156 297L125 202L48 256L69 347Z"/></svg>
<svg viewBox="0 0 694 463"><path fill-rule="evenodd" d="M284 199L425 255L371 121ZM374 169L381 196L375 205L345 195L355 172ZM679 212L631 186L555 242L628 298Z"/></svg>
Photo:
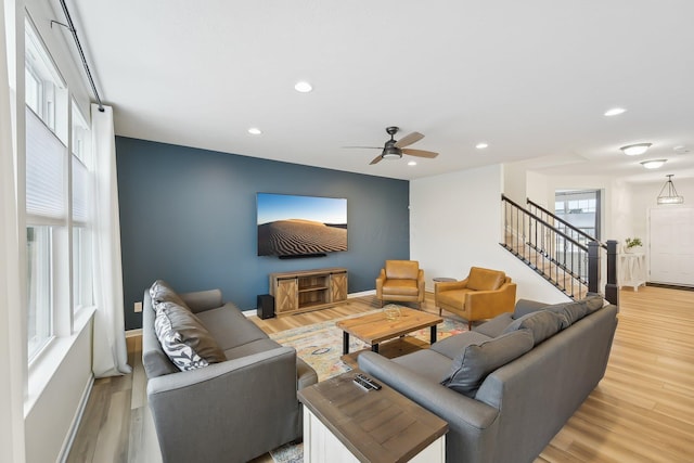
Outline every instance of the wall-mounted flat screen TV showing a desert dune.
<svg viewBox="0 0 694 463"><path fill-rule="evenodd" d="M347 200L257 194L258 256L318 257L347 250Z"/></svg>

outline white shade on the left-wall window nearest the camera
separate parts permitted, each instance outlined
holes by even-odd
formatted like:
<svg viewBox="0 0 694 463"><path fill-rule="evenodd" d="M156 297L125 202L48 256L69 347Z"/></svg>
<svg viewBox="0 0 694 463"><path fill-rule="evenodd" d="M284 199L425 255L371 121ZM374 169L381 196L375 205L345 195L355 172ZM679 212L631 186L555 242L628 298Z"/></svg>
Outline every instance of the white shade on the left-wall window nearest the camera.
<svg viewBox="0 0 694 463"><path fill-rule="evenodd" d="M64 219L65 156L67 147L30 110L26 108L26 213Z"/></svg>

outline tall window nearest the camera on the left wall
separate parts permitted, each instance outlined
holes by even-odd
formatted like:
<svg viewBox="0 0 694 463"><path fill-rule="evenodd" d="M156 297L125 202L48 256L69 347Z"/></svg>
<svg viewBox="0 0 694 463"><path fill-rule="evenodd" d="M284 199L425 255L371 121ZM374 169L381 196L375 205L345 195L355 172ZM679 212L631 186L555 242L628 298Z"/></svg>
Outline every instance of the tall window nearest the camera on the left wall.
<svg viewBox="0 0 694 463"><path fill-rule="evenodd" d="M55 314L65 294L56 287L69 263L67 91L30 23L25 23L27 348L31 361L54 336Z"/></svg>

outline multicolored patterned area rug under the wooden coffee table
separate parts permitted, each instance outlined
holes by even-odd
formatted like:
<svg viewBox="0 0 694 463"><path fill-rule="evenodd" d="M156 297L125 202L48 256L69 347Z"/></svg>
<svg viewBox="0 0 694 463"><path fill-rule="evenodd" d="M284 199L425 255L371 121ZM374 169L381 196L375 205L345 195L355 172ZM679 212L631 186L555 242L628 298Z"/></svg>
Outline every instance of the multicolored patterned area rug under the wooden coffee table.
<svg viewBox="0 0 694 463"><path fill-rule="evenodd" d="M335 326L335 322L361 317L375 311L377 310L286 330L271 334L270 337L283 346L294 347L297 355L316 370L318 381L324 381L351 370L348 364L340 360L343 331ZM446 339L449 336L467 331L467 322L444 317L444 323L439 323L436 326L436 331L438 340ZM414 336L417 339L428 343L429 329L413 332L409 334L409 336ZM355 336L350 336L349 340L350 352L369 347L368 344L356 339ZM303 463L304 445L301 442L290 442L272 450L270 455L274 463Z"/></svg>

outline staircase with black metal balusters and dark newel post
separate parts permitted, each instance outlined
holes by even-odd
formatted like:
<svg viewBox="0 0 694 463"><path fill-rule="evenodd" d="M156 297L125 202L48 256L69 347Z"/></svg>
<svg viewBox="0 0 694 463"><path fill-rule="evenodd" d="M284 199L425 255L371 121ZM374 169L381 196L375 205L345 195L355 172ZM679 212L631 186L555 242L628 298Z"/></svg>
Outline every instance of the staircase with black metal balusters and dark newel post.
<svg viewBox="0 0 694 463"><path fill-rule="evenodd" d="M603 244L538 204L524 208L503 194L505 249L574 299L602 293L617 304L617 242ZM607 283L601 292L601 257L606 258Z"/></svg>

